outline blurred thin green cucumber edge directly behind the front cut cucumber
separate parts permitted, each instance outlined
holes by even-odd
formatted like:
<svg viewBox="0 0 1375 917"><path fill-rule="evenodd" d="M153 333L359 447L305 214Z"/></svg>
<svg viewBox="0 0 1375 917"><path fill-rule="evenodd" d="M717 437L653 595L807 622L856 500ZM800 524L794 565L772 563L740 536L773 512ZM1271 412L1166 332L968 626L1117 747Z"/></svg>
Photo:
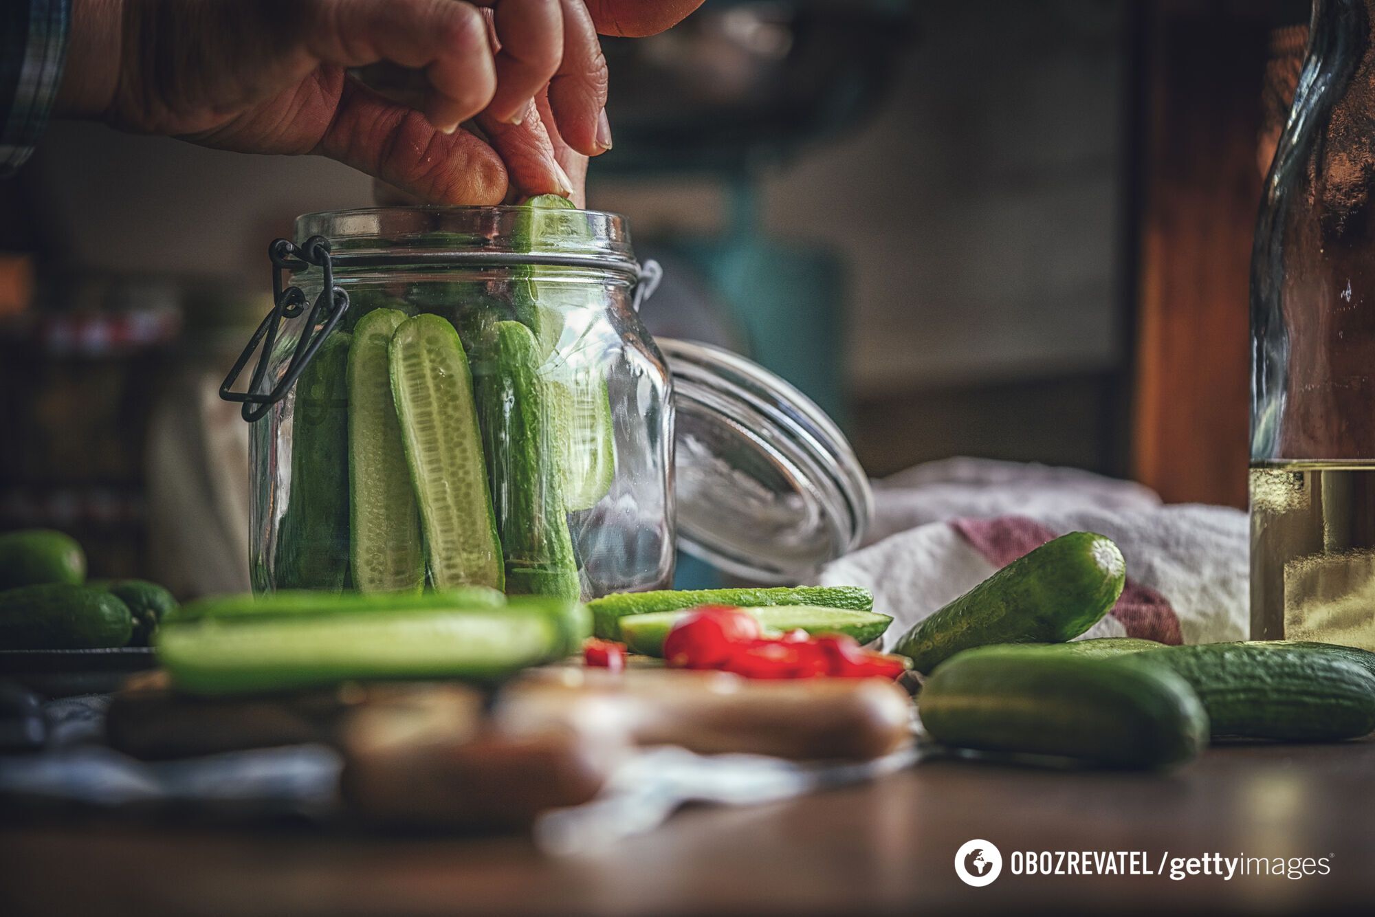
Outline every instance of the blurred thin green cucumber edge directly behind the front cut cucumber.
<svg viewBox="0 0 1375 917"><path fill-rule="evenodd" d="M300 617L314 615L385 615L389 612L495 608L506 604L506 595L487 586L459 586L443 593L373 594L342 593L330 595L309 590L283 590L268 595L239 593L212 595L176 608L162 619L164 624L184 624L205 619L241 620Z"/></svg>

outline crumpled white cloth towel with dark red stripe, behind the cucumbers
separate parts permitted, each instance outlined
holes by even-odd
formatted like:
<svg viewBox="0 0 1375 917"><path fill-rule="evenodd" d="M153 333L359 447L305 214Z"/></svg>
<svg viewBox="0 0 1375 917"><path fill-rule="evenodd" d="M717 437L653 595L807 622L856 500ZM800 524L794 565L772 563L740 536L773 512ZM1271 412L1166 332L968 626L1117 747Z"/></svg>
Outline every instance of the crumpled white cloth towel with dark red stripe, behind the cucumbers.
<svg viewBox="0 0 1375 917"><path fill-rule="evenodd" d="M1002 565L1074 531L1111 538L1126 558L1122 599L1085 638L1246 639L1246 513L1166 506L1140 484L1074 469L958 458L877 481L876 538L818 582L872 590L874 610L894 616L891 646Z"/></svg>

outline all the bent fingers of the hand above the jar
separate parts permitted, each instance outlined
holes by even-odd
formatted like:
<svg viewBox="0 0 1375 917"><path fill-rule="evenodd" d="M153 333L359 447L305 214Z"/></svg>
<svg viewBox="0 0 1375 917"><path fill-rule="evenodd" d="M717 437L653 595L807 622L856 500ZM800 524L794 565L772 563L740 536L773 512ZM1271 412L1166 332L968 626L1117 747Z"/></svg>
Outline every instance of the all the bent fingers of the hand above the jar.
<svg viewBox="0 0 1375 917"><path fill-rule="evenodd" d="M612 144L605 114L606 60L597 29L646 34L676 22L698 4L319 0L314 27L308 29L311 54L344 67L385 60L424 69L429 82L421 103L428 125L351 82L320 148L436 202L498 202L507 180L524 194L580 198L582 179L573 181L569 168L584 175L582 157L601 154ZM477 7L491 7L491 29ZM546 87L547 99L542 93ZM461 122L478 114L490 147L458 131ZM454 142L441 143L434 129ZM456 158L444 162L443 157ZM474 173L463 176L459 161Z"/></svg>

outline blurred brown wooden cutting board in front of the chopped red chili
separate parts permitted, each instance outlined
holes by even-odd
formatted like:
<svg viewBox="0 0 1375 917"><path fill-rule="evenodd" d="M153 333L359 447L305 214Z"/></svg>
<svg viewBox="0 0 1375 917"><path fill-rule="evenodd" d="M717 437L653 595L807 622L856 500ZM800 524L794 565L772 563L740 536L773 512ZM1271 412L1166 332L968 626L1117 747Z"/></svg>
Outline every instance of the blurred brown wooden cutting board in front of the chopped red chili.
<svg viewBox="0 0 1375 917"><path fill-rule="evenodd" d="M143 759L324 742L366 817L446 826L528 824L601 789L637 748L866 760L910 741L910 700L879 679L751 682L723 672L535 670L499 692L451 682L345 685L195 698L133 679L107 718Z"/></svg>

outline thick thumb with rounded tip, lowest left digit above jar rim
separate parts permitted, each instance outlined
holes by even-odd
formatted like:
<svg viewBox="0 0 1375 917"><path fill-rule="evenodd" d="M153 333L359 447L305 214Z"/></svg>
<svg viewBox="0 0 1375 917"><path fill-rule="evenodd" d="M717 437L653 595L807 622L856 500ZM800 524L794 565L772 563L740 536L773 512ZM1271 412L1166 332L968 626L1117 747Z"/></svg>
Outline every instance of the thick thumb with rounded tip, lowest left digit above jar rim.
<svg viewBox="0 0 1375 917"><path fill-rule="evenodd" d="M440 133L418 111L352 80L315 153L432 203L494 205L506 197L506 166L492 147L466 131Z"/></svg>

